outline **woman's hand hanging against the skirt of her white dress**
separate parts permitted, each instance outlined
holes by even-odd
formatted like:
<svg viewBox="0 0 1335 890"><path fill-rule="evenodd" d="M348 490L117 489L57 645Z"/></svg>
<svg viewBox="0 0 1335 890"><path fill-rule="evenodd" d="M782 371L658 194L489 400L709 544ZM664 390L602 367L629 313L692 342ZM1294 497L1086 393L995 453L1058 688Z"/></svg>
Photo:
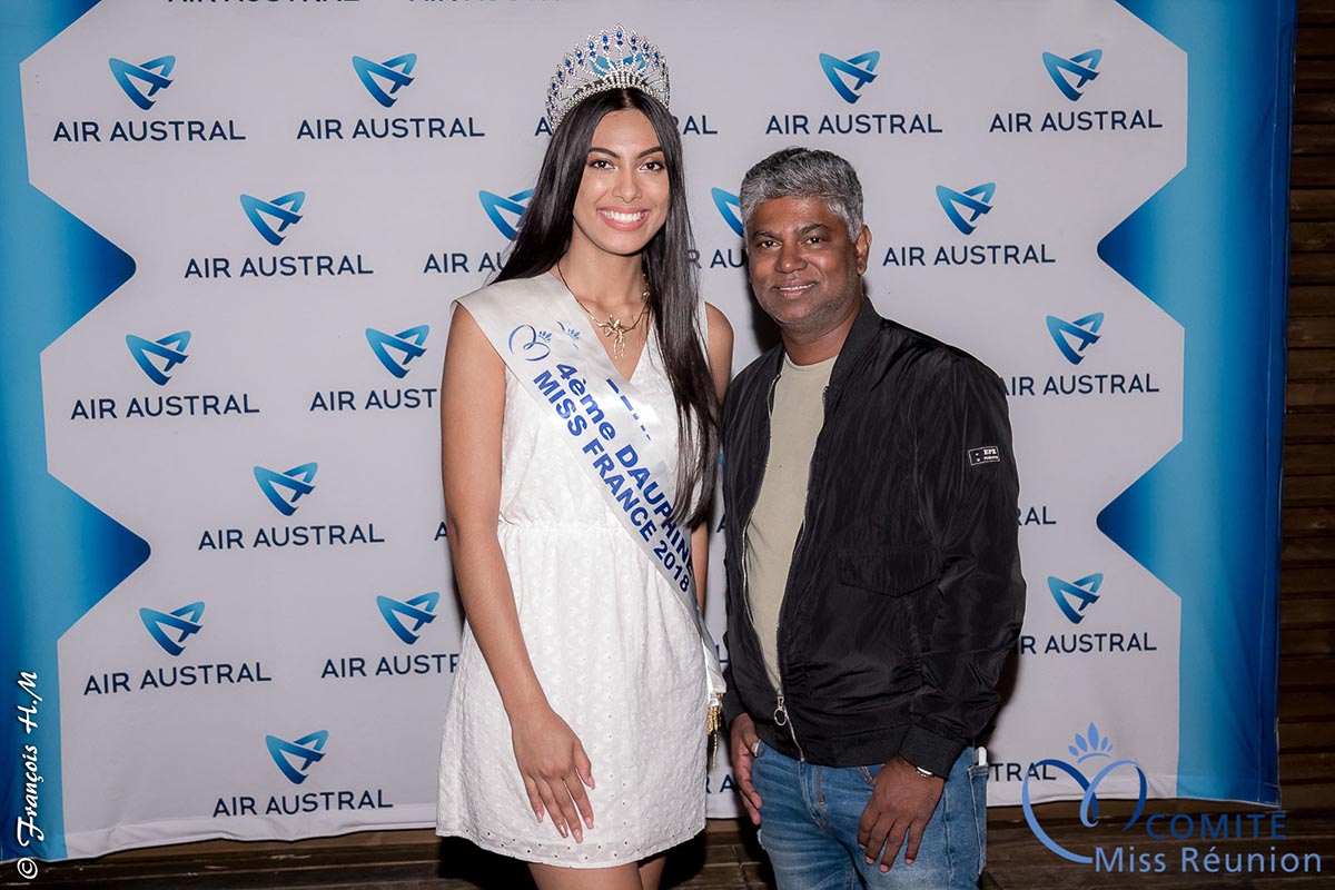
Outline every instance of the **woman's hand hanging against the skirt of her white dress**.
<svg viewBox="0 0 1335 890"><path fill-rule="evenodd" d="M561 837L569 833L581 843L581 817L593 829L593 806L585 793L586 785L593 787L593 765L579 737L550 707L511 721L510 733L533 814L542 822L546 810Z"/></svg>

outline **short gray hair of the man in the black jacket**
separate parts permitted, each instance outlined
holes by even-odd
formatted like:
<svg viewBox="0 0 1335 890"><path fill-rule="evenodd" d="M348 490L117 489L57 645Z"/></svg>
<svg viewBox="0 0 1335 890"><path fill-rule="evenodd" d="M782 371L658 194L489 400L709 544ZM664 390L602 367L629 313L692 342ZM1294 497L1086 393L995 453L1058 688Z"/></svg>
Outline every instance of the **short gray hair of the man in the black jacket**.
<svg viewBox="0 0 1335 890"><path fill-rule="evenodd" d="M848 224L848 236L862 234L862 183L846 160L830 151L793 145L777 151L746 171L738 203L742 226L761 201L776 197L821 197Z"/></svg>

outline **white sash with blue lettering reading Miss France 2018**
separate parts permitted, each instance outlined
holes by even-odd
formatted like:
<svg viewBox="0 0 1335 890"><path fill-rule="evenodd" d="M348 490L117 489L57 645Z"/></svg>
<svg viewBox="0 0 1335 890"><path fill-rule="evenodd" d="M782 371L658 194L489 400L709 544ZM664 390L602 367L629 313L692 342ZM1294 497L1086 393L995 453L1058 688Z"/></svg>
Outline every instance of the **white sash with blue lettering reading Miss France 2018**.
<svg viewBox="0 0 1335 890"><path fill-rule="evenodd" d="M615 368L575 300L550 275L493 284L459 303L693 616L713 701L725 690L724 675L696 604L690 530L670 519L677 492L653 438L663 430L657 412ZM649 358L647 344L641 362Z"/></svg>

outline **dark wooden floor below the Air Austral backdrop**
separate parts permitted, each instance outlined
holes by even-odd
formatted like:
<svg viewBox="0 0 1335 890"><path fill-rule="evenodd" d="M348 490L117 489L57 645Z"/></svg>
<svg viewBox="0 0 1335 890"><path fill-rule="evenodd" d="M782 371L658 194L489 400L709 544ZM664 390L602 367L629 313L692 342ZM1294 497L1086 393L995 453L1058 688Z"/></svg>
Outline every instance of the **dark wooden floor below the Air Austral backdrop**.
<svg viewBox="0 0 1335 890"><path fill-rule="evenodd" d="M1332 802L1335 805L1335 802ZM1109 807L1112 809L1112 807ZM1045 810L1045 813L1043 813ZM1260 813L1255 807L1228 807L1171 802L1151 802L1149 813ZM1290 813L1286 838L1149 841L1137 826L1135 837L1123 835L1116 815L1105 813L1101 825L1084 829L1068 805L1040 807L1043 825L1052 837L1072 850L1089 853L1095 846L1131 847L1135 853L1163 854L1163 874L1124 869L1120 873L1093 870L1089 865L1067 862L1044 849L1015 807L989 814L988 870L984 890L1061 890L1067 887L1262 887L1264 890L1316 890L1335 887L1335 809ZM1124 819L1123 819L1124 821ZM1185 825L1185 823L1183 823ZM1220 857L1242 853L1263 854L1264 871L1228 874L1226 859L1219 873L1183 873L1183 846L1199 847L1196 862L1206 854ZM1320 871L1284 874L1270 870L1271 847L1282 857L1292 853L1320 857ZM1246 858L1243 859L1246 862ZM1255 863L1256 859L1252 859ZM41 865L32 881L20 878L13 863L3 867L0 887L100 887L120 890L314 890L347 887L358 890L525 890L531 887L526 870L510 861L477 851L467 843L442 842L429 830L368 831L339 838L318 838L292 843L207 841L200 843L131 850L99 859ZM1254 865L1255 869L1255 865ZM754 834L734 822L714 821L692 843L676 850L668 874L668 887L681 890L769 889L773 879Z"/></svg>

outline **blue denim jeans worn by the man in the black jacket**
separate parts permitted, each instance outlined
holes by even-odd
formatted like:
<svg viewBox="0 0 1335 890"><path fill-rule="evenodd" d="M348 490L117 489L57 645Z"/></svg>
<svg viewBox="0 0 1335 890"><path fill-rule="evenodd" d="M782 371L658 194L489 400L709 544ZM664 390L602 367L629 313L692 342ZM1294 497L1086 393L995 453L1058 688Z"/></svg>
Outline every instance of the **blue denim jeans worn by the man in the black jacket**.
<svg viewBox="0 0 1335 890"><path fill-rule="evenodd" d="M955 890L976 887L987 861L988 767L965 749L951 769L913 865L904 847L889 871L866 863L857 823L881 766L814 766L760 745L752 781L761 807L760 842L778 890Z"/></svg>

